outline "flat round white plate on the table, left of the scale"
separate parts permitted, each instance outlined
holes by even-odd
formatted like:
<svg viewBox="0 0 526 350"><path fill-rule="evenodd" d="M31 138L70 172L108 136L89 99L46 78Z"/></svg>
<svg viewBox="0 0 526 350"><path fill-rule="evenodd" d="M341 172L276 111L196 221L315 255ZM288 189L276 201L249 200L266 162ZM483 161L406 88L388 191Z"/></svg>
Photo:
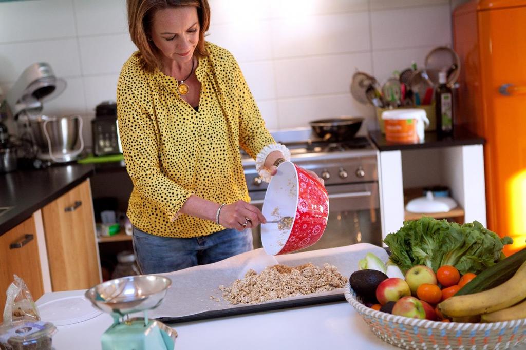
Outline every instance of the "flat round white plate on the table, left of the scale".
<svg viewBox="0 0 526 350"><path fill-rule="evenodd" d="M102 314L84 295L68 296L38 306L42 321L55 326L84 322Z"/></svg>

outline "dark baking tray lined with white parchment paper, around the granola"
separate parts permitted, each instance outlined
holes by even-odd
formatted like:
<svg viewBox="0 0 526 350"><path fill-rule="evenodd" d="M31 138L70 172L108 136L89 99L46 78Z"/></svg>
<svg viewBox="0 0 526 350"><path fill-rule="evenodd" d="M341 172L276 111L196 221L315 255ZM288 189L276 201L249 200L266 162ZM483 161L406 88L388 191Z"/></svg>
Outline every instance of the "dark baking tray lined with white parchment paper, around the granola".
<svg viewBox="0 0 526 350"><path fill-rule="evenodd" d="M343 276L356 271L358 262L367 252L373 252L382 260L388 254L379 246L359 243L338 248L298 252L271 256L262 249L252 250L231 258L207 265L162 274L173 283L168 289L163 304L149 315L164 323L181 323L210 318L228 317L249 313L281 310L293 307L343 302L343 289L320 294L297 295L259 304L232 305L221 297L221 286L225 281L235 281L245 276L248 270L260 273L267 266L284 264L298 266L312 263L323 266L334 265ZM230 282L227 282L227 285Z"/></svg>

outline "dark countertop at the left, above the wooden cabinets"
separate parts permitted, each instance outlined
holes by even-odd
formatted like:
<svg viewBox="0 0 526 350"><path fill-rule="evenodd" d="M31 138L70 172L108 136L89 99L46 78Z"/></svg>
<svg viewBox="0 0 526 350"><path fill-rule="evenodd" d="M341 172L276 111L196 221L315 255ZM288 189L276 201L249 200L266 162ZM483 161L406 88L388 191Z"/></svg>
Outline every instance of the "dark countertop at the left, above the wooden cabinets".
<svg viewBox="0 0 526 350"><path fill-rule="evenodd" d="M0 174L0 235L31 217L94 174L92 164L56 165L43 170L19 170Z"/></svg>

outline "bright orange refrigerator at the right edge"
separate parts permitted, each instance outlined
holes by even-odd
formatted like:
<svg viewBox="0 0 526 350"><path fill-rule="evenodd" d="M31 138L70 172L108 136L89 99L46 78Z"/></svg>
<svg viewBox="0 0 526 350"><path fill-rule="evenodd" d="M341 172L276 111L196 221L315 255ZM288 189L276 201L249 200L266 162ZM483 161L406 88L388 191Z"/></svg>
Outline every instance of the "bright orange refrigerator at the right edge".
<svg viewBox="0 0 526 350"><path fill-rule="evenodd" d="M526 246L526 0L477 0L453 12L461 58L456 124L484 137L488 228Z"/></svg>

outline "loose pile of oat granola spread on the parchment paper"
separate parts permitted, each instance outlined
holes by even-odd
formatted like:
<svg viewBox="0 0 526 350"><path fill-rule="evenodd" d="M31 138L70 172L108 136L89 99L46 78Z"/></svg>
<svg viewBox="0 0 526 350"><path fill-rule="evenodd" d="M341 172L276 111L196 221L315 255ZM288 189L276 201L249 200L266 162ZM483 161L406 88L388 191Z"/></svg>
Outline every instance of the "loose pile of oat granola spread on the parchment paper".
<svg viewBox="0 0 526 350"><path fill-rule="evenodd" d="M248 270L244 279L236 280L228 287L220 285L219 290L231 304L258 304L290 296L330 292L342 288L346 282L336 266L327 263L323 267L312 263L296 267L274 265L265 267L259 275Z"/></svg>

